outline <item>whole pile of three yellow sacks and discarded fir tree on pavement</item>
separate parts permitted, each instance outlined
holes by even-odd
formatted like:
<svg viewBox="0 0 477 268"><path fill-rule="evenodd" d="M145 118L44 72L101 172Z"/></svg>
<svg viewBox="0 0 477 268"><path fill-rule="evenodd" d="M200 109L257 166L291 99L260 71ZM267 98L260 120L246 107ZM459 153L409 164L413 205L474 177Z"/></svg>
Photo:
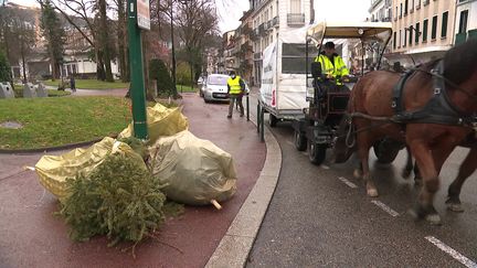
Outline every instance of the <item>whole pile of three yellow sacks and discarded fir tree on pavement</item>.
<svg viewBox="0 0 477 268"><path fill-rule="evenodd" d="M72 238L104 234L112 243L137 242L162 223L166 197L204 205L235 193L231 154L189 132L179 107L157 104L147 117L147 142L132 138L129 125L117 140L104 138L36 163L40 183L61 202Z"/></svg>

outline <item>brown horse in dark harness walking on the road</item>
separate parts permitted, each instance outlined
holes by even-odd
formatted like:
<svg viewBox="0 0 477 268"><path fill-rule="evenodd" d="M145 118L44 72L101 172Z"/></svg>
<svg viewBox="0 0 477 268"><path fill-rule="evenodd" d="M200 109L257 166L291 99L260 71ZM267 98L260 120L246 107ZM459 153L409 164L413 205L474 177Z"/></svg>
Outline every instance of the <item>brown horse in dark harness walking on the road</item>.
<svg viewBox="0 0 477 268"><path fill-rule="evenodd" d="M339 138L335 147L337 162L347 160L353 149L358 150L367 193L378 196L368 164L369 149L384 137L405 143L416 159L424 184L412 212L416 217L426 218L434 224L441 223L434 208L434 195L439 187L438 173L444 161L471 128L459 125L462 118L454 118L452 121L455 124L449 124L449 120L436 121L433 114L437 112L438 107L435 105L427 114L411 112L422 111L435 96L442 94L447 100L442 106L452 107L456 111L454 114L463 118L471 118L477 111L477 41L467 41L453 47L444 57L442 72L433 72L437 66L437 61L427 63L409 76L398 103L398 106L402 105L404 114L399 116L392 104L393 99L396 104L393 88L401 75L385 71L364 75L351 92L348 104L350 117L344 119L340 128L340 131L346 131L348 127L348 133L354 130L356 146L350 144L353 143L350 141L352 137L348 135L347 139ZM436 83L441 83L441 86ZM434 101L436 103L441 104ZM352 126L347 126L347 122Z"/></svg>

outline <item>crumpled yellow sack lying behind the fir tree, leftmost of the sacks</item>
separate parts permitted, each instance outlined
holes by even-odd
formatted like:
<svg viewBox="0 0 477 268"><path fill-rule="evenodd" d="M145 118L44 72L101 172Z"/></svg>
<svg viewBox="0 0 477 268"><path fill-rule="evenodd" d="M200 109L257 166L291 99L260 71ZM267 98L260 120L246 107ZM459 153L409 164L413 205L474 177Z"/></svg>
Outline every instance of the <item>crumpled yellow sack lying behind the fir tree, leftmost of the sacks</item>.
<svg viewBox="0 0 477 268"><path fill-rule="evenodd" d="M126 153L134 161L144 163L132 149L113 138L104 138L88 149L74 149L62 156L43 156L35 165L40 183L60 200L66 196L66 178L75 178L78 172L88 174L110 153ZM146 168L146 165L145 165Z"/></svg>

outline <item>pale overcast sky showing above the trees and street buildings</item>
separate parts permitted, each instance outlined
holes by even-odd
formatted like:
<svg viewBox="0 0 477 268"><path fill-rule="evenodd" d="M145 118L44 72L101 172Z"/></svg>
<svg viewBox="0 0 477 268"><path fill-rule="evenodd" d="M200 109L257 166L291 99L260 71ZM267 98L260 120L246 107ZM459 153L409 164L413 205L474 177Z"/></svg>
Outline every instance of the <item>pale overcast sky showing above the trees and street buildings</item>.
<svg viewBox="0 0 477 268"><path fill-rule="evenodd" d="M9 0L23 6L38 6L35 0ZM216 0L235 2L236 6L224 9L219 4L220 22L219 28L222 32L234 30L240 25L239 19L243 12L248 10L248 0ZM370 0L315 0L317 10L316 21L363 21L371 6Z"/></svg>

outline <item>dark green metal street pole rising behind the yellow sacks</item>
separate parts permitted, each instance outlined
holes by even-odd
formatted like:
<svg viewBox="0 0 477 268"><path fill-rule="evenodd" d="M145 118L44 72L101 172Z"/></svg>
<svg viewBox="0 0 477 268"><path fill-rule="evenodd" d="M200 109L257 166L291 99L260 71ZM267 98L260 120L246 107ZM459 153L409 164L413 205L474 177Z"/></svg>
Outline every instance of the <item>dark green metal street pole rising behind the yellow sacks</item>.
<svg viewBox="0 0 477 268"><path fill-rule="evenodd" d="M130 61L130 96L132 100L132 128L136 138L148 139L146 124L146 94L142 72L142 45L137 25L137 2L128 0L128 35Z"/></svg>

